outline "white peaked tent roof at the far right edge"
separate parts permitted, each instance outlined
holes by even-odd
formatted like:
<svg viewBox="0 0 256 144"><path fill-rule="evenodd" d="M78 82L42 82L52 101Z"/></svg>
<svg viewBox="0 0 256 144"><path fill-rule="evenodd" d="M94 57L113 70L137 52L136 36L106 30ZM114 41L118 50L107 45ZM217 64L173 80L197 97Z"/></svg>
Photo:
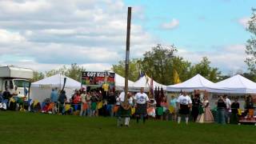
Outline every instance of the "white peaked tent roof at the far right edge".
<svg viewBox="0 0 256 144"><path fill-rule="evenodd" d="M237 74L221 82L214 84L215 87L229 89L227 93L251 94L256 93L256 83Z"/></svg>

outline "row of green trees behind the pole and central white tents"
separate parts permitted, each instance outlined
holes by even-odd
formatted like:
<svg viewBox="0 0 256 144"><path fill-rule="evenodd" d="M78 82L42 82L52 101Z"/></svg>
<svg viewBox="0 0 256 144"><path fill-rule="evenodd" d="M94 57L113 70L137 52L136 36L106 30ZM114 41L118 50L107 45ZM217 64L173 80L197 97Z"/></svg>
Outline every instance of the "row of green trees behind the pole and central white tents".
<svg viewBox="0 0 256 144"><path fill-rule="evenodd" d="M182 82L192 78L195 74L201 74L212 82L222 80L221 71L216 67L210 66L208 58L202 58L201 62L192 65L191 62L176 55L175 46L162 46L158 44L152 50L146 51L143 58L131 59L129 79L136 81L139 78L140 71L152 77L156 82L164 85L174 84L174 70ZM125 75L125 61L120 61L113 65L115 73L121 76Z"/></svg>

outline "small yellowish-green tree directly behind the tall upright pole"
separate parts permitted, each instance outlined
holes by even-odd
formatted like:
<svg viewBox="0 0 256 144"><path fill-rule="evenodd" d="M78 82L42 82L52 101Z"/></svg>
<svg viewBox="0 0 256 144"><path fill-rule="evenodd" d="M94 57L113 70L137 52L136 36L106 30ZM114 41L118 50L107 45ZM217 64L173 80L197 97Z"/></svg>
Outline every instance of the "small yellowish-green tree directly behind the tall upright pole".
<svg viewBox="0 0 256 144"><path fill-rule="evenodd" d="M129 62L129 76L128 79L131 81L137 81L138 80L138 74L139 74L139 66L140 66L140 60L139 59L131 59ZM114 73L121 75L122 77L125 77L125 71L126 71L126 61L119 61L118 64L112 66L112 70Z"/></svg>

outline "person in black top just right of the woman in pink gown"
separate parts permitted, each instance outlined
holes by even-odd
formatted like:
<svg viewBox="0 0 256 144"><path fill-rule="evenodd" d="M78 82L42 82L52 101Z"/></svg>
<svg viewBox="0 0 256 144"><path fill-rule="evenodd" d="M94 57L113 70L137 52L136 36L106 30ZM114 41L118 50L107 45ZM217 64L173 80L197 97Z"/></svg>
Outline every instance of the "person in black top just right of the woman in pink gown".
<svg viewBox="0 0 256 144"><path fill-rule="evenodd" d="M217 103L217 118L218 124L226 124L225 122L225 110L226 102L222 96L219 96Z"/></svg>

